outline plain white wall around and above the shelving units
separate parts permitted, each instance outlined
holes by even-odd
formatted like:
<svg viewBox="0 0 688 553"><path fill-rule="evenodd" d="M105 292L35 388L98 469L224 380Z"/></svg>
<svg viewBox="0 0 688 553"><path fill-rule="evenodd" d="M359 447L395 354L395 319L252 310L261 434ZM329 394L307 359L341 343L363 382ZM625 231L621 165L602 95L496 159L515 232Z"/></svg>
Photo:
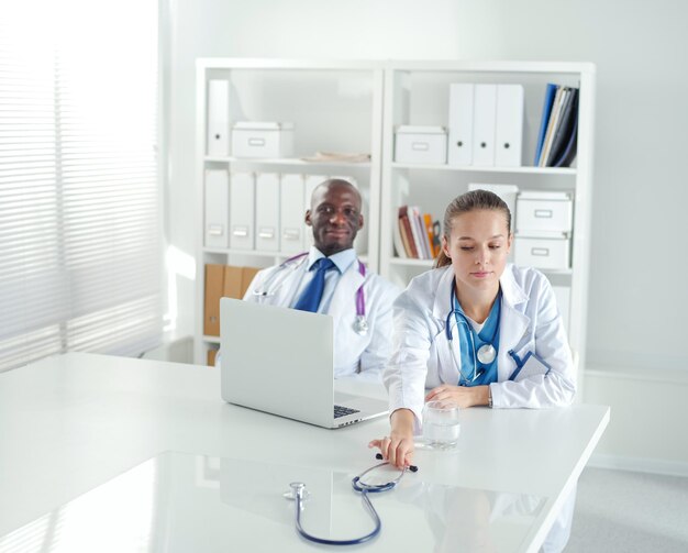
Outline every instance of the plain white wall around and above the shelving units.
<svg viewBox="0 0 688 553"><path fill-rule="evenodd" d="M168 2L171 48L168 236L190 255L200 224L190 208L197 200L196 57L596 63L588 364L645 368L648 379L656 368L688 370L687 325L678 319L688 308L687 224L681 220L688 204L683 170L688 158L688 2L162 1ZM178 284L179 327L191 332L193 284L185 278ZM629 401L642 403L633 395L637 390L631 394ZM608 433L623 424L612 416ZM661 444L648 447L654 449L650 457L663 454ZM688 451L681 455L688 466Z"/></svg>

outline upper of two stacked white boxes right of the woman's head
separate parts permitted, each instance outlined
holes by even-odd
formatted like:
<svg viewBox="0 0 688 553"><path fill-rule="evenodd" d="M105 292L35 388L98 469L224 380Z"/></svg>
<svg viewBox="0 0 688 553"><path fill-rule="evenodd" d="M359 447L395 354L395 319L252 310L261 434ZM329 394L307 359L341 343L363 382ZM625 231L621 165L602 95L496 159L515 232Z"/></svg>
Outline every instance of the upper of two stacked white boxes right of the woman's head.
<svg viewBox="0 0 688 553"><path fill-rule="evenodd" d="M524 190L517 198L517 232L570 232L574 204L568 192Z"/></svg>

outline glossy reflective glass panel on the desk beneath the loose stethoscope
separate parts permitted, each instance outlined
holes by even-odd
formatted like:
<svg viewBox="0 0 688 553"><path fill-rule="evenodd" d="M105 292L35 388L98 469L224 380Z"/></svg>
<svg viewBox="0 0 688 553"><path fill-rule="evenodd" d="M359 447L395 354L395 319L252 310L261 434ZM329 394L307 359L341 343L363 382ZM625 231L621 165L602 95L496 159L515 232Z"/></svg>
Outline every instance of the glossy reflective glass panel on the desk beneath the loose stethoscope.
<svg viewBox="0 0 688 553"><path fill-rule="evenodd" d="M391 491L370 496L382 531L354 549L521 551L541 523L545 498L437 484L437 475L424 478L422 471L408 473ZM371 520L352 490L353 476L166 452L0 538L0 553L331 549L296 533L293 505L282 494L290 482L307 484L311 496L302 522L309 532L362 535ZM379 480L393 476L388 467L375 474Z"/></svg>

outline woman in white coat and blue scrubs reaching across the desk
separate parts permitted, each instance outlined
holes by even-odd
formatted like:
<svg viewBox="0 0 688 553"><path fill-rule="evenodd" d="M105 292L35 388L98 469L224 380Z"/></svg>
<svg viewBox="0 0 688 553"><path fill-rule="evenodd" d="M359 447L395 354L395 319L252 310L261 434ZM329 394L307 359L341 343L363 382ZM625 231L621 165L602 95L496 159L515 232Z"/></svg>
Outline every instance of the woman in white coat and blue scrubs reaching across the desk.
<svg viewBox="0 0 688 553"><path fill-rule="evenodd" d="M442 253L395 302L392 357L384 373L391 431L374 440L385 460L411 464L423 401L539 408L572 402L572 353L552 287L507 264L511 214L495 193L456 198Z"/></svg>

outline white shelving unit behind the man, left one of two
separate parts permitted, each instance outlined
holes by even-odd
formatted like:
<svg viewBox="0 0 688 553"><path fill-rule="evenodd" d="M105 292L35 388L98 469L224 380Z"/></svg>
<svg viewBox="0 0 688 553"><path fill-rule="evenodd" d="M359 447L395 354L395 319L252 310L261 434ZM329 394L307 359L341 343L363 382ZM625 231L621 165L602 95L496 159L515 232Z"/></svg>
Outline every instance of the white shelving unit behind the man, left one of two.
<svg viewBox="0 0 688 553"><path fill-rule="evenodd" d="M279 173L353 177L364 198L365 228L355 247L359 258L379 270L379 214L384 67L376 62L202 58L197 60L198 220L195 362L206 364L219 338L203 334L204 266L267 267L293 253L206 247L204 173ZM230 126L237 121L295 124L295 157L240 158L208 155L209 81L229 81ZM229 129L228 129L229 132ZM311 162L315 152L366 153L370 162ZM303 207L306 211L306 204ZM371 224L373 223L373 224ZM303 248L306 250L306 247Z"/></svg>

